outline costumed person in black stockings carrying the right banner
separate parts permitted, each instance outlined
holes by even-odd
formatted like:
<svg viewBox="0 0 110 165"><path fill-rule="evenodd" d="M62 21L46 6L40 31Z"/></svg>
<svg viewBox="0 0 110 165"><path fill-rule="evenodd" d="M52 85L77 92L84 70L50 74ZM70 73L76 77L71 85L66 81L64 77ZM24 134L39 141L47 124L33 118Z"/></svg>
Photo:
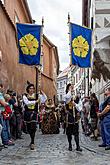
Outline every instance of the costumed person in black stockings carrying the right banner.
<svg viewBox="0 0 110 165"><path fill-rule="evenodd" d="M82 151L79 146L79 112L75 108L75 103L72 101L71 94L71 84L67 85L66 95L65 95L65 104L66 104L66 135L69 143L69 151L72 151L72 135L74 135L74 140L76 143L76 150Z"/></svg>

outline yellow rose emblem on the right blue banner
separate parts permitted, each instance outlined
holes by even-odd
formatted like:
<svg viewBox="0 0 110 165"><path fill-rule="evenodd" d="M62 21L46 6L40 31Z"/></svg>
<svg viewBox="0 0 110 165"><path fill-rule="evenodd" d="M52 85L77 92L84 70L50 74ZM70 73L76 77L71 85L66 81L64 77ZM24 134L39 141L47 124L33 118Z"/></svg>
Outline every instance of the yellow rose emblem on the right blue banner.
<svg viewBox="0 0 110 165"><path fill-rule="evenodd" d="M72 41L72 48L76 56L85 58L89 51L89 44L87 40L80 35Z"/></svg>

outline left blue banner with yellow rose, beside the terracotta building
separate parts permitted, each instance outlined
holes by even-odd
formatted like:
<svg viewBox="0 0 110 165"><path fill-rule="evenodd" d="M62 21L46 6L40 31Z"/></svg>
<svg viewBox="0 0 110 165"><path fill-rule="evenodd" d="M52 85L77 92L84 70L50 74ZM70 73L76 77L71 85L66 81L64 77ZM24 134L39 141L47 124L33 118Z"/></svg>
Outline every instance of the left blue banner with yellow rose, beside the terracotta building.
<svg viewBox="0 0 110 165"><path fill-rule="evenodd" d="M17 23L19 63L40 65L41 28L40 25Z"/></svg>

